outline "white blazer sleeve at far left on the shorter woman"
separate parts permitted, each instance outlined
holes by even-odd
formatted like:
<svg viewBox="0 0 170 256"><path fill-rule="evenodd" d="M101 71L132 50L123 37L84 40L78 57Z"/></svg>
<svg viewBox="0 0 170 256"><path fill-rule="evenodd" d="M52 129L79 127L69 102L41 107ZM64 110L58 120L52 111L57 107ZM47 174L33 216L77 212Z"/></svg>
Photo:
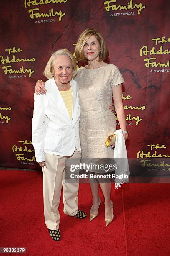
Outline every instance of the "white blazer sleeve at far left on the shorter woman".
<svg viewBox="0 0 170 256"><path fill-rule="evenodd" d="M46 95L34 94L34 114L32 118L32 144L37 162L45 161L44 155L44 100Z"/></svg>

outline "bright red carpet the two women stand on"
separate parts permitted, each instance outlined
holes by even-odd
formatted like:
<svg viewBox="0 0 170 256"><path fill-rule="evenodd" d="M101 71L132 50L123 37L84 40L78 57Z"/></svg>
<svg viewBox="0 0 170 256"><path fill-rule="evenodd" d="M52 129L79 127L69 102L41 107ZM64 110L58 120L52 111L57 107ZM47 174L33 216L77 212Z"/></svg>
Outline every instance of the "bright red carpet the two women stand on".
<svg viewBox="0 0 170 256"><path fill-rule="evenodd" d="M107 228L102 195L99 215L90 222L90 187L80 184L79 208L87 218L64 215L61 200L56 242L44 223L42 173L1 170L0 183L0 247L27 247L26 255L170 255L170 184L112 186L115 218Z"/></svg>

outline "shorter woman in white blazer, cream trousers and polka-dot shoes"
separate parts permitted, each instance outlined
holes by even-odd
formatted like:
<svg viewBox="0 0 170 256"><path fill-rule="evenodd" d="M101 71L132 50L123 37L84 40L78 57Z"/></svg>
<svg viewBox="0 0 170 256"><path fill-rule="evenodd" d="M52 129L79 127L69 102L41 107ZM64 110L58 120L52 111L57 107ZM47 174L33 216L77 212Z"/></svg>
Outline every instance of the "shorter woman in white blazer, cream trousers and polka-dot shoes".
<svg viewBox="0 0 170 256"><path fill-rule="evenodd" d="M67 161L80 159L80 105L76 82L74 56L67 49L56 51L44 71L46 95L34 95L32 144L36 161L43 170L45 224L55 241L60 239L61 186L64 213L77 218L86 214L78 210L78 183L65 183Z"/></svg>

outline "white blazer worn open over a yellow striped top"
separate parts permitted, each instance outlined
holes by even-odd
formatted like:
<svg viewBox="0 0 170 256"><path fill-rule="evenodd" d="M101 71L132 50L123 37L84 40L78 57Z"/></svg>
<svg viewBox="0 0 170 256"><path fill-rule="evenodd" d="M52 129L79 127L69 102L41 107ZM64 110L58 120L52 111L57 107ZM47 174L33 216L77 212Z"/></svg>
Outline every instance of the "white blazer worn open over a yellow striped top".
<svg viewBox="0 0 170 256"><path fill-rule="evenodd" d="M72 118L60 95L54 78L45 82L46 95L34 94L32 144L37 162L45 161L45 153L71 156L75 147L80 151L80 105L77 85L70 81L72 90Z"/></svg>

